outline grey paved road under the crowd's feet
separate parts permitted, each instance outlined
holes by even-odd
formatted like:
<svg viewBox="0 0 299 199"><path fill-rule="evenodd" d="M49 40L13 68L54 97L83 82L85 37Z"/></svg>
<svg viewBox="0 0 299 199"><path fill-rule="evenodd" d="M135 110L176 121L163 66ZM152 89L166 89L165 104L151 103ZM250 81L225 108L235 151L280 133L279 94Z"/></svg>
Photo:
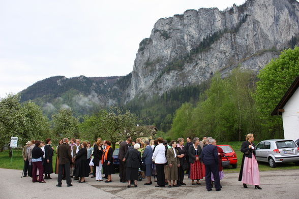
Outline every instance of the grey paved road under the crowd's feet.
<svg viewBox="0 0 299 199"><path fill-rule="evenodd" d="M237 181L238 174L225 174L221 181L221 191L207 192L204 179L201 185L191 185L191 180L186 179L187 186L157 188L153 185L143 185L138 182L138 187L127 188L126 183L119 183L117 174L112 175L112 183L96 182L94 178L86 178L86 183L73 181L72 187L56 187L57 175L53 174L47 183L32 183L30 177L21 178L20 170L0 169L0 198L69 198L70 194L76 198L299 198L299 170L280 170L260 172L262 190L254 186L243 188Z"/></svg>

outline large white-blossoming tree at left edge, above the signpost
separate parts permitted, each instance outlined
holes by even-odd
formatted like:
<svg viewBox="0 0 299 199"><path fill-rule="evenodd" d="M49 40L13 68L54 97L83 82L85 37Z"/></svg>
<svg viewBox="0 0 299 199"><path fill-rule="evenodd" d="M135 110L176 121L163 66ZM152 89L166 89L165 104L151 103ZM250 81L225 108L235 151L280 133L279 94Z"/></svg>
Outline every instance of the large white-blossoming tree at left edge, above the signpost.
<svg viewBox="0 0 299 199"><path fill-rule="evenodd" d="M49 132L49 123L42 110L33 102L20 104L17 95L8 95L0 101L0 147L18 137L18 143L24 144L31 139L44 139Z"/></svg>

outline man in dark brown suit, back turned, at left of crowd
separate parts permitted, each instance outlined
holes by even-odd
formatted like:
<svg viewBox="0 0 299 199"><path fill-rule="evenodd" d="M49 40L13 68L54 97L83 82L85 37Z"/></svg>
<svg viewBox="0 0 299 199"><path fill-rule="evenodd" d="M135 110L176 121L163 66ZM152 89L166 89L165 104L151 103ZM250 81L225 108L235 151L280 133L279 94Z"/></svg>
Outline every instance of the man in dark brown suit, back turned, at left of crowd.
<svg viewBox="0 0 299 199"><path fill-rule="evenodd" d="M63 179L63 170L65 169L65 175L67 179L67 185L73 186L71 174L70 174L70 162L73 160L71 154L71 147L68 145L69 139L64 138L63 144L59 145L57 148L57 157L59 160L59 168L58 168L58 184L57 187L61 187L62 179Z"/></svg>

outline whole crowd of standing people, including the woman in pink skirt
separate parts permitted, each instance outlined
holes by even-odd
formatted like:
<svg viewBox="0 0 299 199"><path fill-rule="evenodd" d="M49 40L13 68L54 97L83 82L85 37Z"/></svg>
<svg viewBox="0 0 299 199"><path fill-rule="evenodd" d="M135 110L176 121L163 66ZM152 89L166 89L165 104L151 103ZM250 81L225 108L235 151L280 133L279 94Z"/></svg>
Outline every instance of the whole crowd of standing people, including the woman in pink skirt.
<svg viewBox="0 0 299 199"><path fill-rule="evenodd" d="M191 179L191 185L200 185L200 180L205 177L207 191L220 191L224 173L222 168L223 150L216 145L216 140L211 137L191 139L188 137L185 144L184 138L167 143L163 138L145 140L140 138L136 142L131 137L119 143L119 181L137 187L138 180L146 178L144 185L152 185L152 177L157 182L155 187L178 187L184 183L185 172ZM255 146L253 134L246 136L241 151L244 153L239 181L259 187L258 164L255 159ZM45 183L44 179L51 179L53 173L52 157L54 149L51 139L42 141L28 141L23 148L24 177L31 176L33 182ZM184 145L185 144L185 145ZM114 173L113 148L110 141L98 138L91 146L89 142L79 139L64 138L56 147L55 174L58 174L56 186L62 186L66 180L67 186L72 186L73 180L84 183L85 178L92 175L96 181L112 182ZM103 170L103 171L102 171ZM102 173L105 175L102 177Z"/></svg>

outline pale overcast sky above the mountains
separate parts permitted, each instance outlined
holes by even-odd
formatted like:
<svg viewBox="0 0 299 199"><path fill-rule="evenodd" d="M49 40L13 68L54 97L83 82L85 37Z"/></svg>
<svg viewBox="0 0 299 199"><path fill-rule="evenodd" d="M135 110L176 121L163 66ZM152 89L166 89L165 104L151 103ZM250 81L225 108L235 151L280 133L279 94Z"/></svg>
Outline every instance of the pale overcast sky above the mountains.
<svg viewBox="0 0 299 199"><path fill-rule="evenodd" d="M39 80L123 76L160 18L245 0L0 0L0 98Z"/></svg>

